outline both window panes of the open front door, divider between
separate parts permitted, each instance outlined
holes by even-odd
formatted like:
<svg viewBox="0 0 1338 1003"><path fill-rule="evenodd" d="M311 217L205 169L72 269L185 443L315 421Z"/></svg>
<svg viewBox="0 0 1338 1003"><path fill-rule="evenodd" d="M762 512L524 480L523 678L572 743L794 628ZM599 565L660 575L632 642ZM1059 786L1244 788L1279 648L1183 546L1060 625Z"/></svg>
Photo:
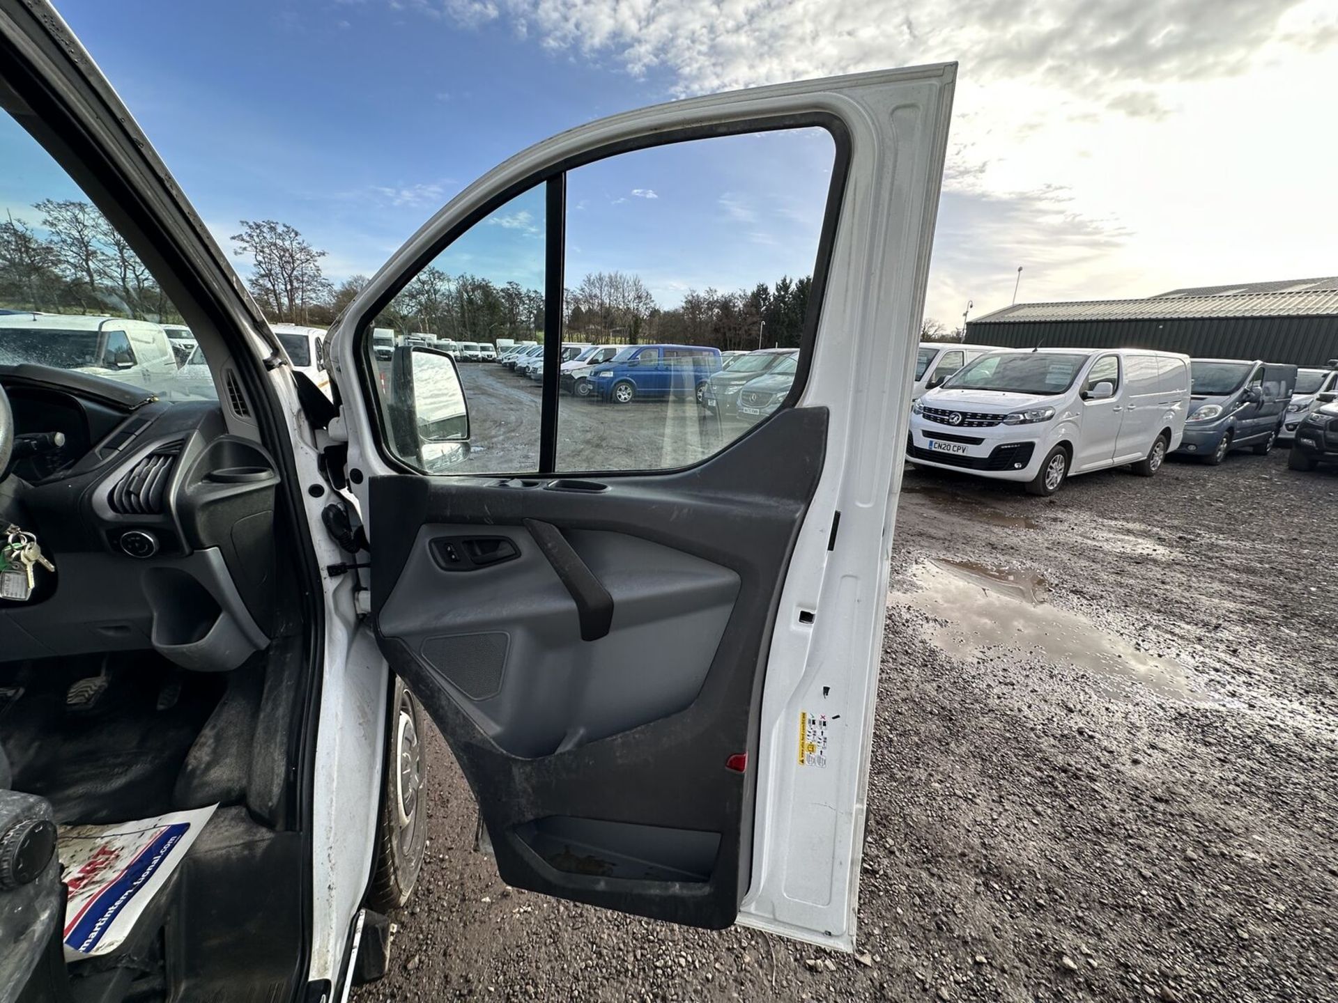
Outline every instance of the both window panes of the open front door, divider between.
<svg viewBox="0 0 1338 1003"><path fill-rule="evenodd" d="M649 471L719 452L773 415L801 369L713 382L723 352L800 349L835 155L823 128L682 140L569 170L562 221L547 218L546 182L492 210L369 324L389 449L417 465L411 436L393 432L411 427L403 397L417 388L395 378L395 358L415 337L458 342L468 404L467 448L432 472ZM565 288L549 290L559 225ZM561 308L559 330L545 329L546 306ZM480 354L500 337L538 344ZM549 338L562 345L553 373ZM546 386L558 404L547 427Z"/></svg>

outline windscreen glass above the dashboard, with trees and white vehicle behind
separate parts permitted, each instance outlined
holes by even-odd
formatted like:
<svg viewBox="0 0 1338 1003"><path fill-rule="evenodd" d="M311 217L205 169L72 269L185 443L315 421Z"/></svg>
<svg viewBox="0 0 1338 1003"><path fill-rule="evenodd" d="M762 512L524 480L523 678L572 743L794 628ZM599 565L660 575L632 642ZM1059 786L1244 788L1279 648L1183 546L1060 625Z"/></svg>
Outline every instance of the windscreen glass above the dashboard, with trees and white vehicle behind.
<svg viewBox="0 0 1338 1003"><path fill-rule="evenodd" d="M0 364L78 369L163 399L217 399L183 378L167 328L190 332L126 238L23 128L0 111ZM207 374L207 369L203 370Z"/></svg>

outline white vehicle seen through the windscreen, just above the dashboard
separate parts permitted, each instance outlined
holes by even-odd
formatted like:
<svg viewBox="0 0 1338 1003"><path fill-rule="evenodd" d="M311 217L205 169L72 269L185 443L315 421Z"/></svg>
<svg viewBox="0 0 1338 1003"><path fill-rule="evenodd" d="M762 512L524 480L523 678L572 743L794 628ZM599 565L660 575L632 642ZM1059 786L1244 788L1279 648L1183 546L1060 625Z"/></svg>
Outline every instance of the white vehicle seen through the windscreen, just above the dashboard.
<svg viewBox="0 0 1338 1003"><path fill-rule="evenodd" d="M20 362L136 386L165 385L179 368L171 338L159 324L63 313L0 316L0 364Z"/></svg>

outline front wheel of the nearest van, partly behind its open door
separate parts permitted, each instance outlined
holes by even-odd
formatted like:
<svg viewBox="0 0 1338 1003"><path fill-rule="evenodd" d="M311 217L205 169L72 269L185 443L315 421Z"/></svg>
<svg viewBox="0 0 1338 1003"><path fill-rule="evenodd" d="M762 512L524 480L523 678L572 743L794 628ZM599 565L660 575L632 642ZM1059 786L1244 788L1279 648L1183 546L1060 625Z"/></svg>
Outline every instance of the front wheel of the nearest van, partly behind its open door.
<svg viewBox="0 0 1338 1003"><path fill-rule="evenodd" d="M408 901L423 868L423 848L427 844L423 707L399 679L395 681L392 698L381 816L376 825L376 871L367 893L368 908L383 913Z"/></svg>

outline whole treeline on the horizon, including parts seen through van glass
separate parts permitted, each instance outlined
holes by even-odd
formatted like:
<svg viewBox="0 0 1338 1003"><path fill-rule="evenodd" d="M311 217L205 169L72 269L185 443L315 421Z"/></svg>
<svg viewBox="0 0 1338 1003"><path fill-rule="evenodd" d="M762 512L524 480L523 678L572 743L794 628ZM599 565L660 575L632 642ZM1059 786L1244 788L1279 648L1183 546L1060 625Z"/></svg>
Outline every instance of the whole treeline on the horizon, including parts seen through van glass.
<svg viewBox="0 0 1338 1003"><path fill-rule="evenodd" d="M54 313L110 313L179 321L175 308L120 234L88 202L43 199L40 226L12 214L0 221L0 308ZM248 288L274 322L329 325L367 285L352 275L325 278L325 251L274 219L241 221L233 253L250 261ZM563 296L563 340L613 344L656 341L748 349L799 345L812 280L721 292L689 289L661 306L638 275L594 271ZM495 284L428 266L377 318L405 333L456 341L539 338L543 293L518 282Z"/></svg>

